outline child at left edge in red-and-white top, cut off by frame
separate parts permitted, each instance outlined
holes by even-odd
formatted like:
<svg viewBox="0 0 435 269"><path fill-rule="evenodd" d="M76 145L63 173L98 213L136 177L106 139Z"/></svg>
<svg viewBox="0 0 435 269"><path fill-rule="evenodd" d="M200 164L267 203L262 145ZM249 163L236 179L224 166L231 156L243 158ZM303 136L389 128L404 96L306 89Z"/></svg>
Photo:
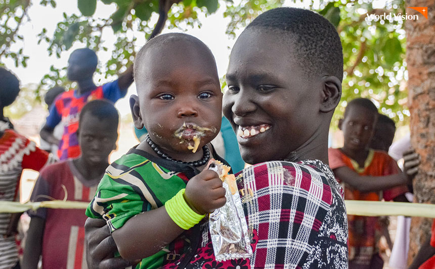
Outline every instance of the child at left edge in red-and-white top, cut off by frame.
<svg viewBox="0 0 435 269"><path fill-rule="evenodd" d="M14 74L0 68L0 113L20 92ZM0 121L0 201L19 201L19 181L23 169L39 171L51 162L49 154L11 128L9 120ZM21 213L0 213L0 268L20 268L15 234Z"/></svg>

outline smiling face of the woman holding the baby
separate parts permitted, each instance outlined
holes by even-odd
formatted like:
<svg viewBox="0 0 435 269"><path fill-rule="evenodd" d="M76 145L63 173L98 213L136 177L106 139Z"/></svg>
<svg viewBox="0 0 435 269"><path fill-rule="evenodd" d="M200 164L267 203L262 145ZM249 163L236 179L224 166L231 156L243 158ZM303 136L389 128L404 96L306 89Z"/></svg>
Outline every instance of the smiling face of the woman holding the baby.
<svg viewBox="0 0 435 269"><path fill-rule="evenodd" d="M282 160L320 126L315 81L276 34L248 30L231 52L223 112L248 164Z"/></svg>

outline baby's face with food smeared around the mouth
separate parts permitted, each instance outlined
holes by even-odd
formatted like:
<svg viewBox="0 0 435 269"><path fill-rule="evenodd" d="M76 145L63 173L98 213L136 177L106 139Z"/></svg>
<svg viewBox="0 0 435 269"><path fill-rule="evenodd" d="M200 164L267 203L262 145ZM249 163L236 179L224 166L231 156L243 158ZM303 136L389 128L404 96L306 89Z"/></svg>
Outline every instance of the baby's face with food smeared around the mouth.
<svg viewBox="0 0 435 269"><path fill-rule="evenodd" d="M222 92L211 55L190 42L152 47L136 78L142 119L167 154L191 152L218 133Z"/></svg>

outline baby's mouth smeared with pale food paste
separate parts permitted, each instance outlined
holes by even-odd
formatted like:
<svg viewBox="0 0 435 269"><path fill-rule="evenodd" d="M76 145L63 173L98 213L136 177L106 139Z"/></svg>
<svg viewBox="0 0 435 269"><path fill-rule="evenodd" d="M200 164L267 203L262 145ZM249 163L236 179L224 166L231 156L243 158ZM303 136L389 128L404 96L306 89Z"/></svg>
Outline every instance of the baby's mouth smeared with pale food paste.
<svg viewBox="0 0 435 269"><path fill-rule="evenodd" d="M183 123L183 126L175 131L174 136L181 140L180 143L187 142L187 148L195 153L201 142L201 137L205 136L206 131L213 130L207 127L200 127L194 123Z"/></svg>

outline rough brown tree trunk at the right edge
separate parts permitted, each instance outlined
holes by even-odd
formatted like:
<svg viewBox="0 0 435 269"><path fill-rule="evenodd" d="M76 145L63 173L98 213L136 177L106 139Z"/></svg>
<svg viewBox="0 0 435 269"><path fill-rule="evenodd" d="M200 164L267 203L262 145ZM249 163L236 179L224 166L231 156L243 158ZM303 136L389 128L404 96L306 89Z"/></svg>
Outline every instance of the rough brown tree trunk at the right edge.
<svg viewBox="0 0 435 269"><path fill-rule="evenodd" d="M427 19L413 9L407 20L406 62L408 64L408 105L411 113L411 144L421 156L421 164L414 180L414 202L435 203L435 0L407 0L407 7L427 7ZM430 235L431 221L413 218L411 222L411 263L423 240Z"/></svg>

